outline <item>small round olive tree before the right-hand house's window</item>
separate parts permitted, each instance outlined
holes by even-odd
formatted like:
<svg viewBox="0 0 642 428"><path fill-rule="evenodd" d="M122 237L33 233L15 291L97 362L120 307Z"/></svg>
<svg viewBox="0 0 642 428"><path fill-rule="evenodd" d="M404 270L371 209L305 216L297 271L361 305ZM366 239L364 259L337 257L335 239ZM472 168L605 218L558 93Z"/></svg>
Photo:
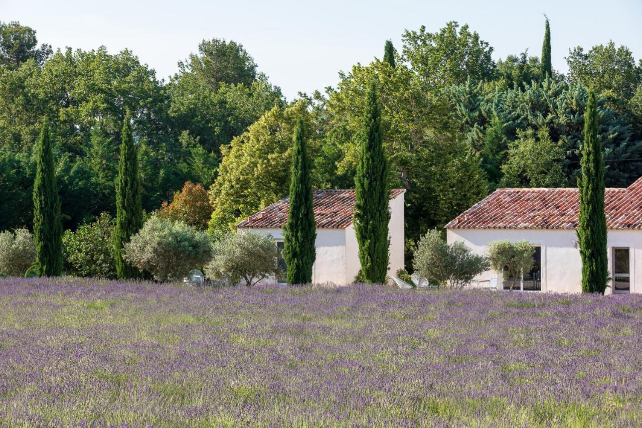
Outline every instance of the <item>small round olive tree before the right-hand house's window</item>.
<svg viewBox="0 0 642 428"><path fill-rule="evenodd" d="M515 286L517 277L521 278L523 272L532 269L533 254L535 254L535 247L526 240L519 242L495 241L491 242L488 247L488 259L492 270L503 271L509 277L513 277L510 284L511 290Z"/></svg>

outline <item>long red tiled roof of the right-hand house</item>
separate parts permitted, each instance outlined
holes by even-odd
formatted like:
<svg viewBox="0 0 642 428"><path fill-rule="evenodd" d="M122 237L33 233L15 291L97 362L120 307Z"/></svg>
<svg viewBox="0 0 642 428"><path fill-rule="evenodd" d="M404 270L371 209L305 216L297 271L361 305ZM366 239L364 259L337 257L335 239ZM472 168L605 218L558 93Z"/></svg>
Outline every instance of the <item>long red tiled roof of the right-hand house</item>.
<svg viewBox="0 0 642 428"><path fill-rule="evenodd" d="M498 189L449 222L449 229L575 229L577 188ZM642 178L628 188L607 188L609 229L642 229Z"/></svg>

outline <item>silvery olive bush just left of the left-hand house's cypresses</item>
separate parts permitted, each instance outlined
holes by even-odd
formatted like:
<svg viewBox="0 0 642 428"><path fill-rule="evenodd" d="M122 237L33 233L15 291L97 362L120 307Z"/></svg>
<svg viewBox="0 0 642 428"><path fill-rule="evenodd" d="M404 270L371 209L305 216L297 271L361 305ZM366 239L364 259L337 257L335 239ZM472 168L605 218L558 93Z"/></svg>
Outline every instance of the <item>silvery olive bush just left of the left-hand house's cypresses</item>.
<svg viewBox="0 0 642 428"><path fill-rule="evenodd" d="M210 278L238 283L241 278L245 285L277 274L277 246L272 235L254 231L230 233L214 244L214 257L205 267Z"/></svg>

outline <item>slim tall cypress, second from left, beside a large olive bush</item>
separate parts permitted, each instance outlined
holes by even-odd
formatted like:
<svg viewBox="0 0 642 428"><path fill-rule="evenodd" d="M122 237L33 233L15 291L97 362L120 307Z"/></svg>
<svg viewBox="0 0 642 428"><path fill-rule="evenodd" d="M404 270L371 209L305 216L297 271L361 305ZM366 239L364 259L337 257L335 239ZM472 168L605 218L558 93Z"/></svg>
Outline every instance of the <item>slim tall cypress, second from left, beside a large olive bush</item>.
<svg viewBox="0 0 642 428"><path fill-rule="evenodd" d="M138 278L140 272L123 259L123 245L143 227L141 182L138 176L138 156L132 137L130 114L125 114L121 132L120 159L116 177L116 237L114 254L119 278Z"/></svg>

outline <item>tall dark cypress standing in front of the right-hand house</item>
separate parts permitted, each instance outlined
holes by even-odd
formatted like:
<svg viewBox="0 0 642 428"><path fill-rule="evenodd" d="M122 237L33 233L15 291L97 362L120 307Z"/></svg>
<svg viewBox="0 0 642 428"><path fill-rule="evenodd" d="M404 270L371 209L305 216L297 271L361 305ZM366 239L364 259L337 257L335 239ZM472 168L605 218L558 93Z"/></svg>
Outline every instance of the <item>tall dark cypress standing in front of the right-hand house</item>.
<svg viewBox="0 0 642 428"><path fill-rule="evenodd" d="M584 144L580 165L582 174L578 177L580 212L577 238L582 258L582 291L604 294L609 275L604 213L604 160L593 91L589 93L584 114Z"/></svg>

